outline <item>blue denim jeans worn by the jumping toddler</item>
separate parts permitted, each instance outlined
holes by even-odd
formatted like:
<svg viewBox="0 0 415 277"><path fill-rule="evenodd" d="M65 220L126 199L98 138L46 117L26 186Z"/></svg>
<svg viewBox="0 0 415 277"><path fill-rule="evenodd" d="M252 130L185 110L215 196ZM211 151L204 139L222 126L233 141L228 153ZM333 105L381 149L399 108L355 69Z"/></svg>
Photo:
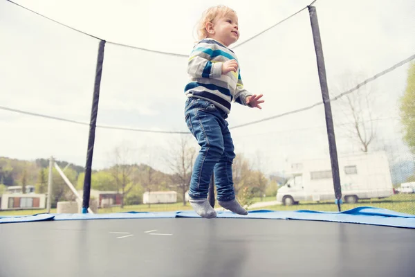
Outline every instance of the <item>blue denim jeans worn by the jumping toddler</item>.
<svg viewBox="0 0 415 277"><path fill-rule="evenodd" d="M185 120L187 127L201 146L190 180L189 196L192 199L208 198L212 172L218 201L235 199L232 181L234 144L225 120L228 115L212 102L200 98L187 98Z"/></svg>

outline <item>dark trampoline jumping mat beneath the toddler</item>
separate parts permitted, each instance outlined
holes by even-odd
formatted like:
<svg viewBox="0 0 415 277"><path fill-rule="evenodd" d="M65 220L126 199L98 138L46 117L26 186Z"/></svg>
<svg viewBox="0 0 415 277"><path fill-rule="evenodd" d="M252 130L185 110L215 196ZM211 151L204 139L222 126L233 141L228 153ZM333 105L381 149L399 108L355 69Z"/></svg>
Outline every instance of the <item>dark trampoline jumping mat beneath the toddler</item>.
<svg viewBox="0 0 415 277"><path fill-rule="evenodd" d="M201 218L0 224L1 277L415 276L415 231Z"/></svg>

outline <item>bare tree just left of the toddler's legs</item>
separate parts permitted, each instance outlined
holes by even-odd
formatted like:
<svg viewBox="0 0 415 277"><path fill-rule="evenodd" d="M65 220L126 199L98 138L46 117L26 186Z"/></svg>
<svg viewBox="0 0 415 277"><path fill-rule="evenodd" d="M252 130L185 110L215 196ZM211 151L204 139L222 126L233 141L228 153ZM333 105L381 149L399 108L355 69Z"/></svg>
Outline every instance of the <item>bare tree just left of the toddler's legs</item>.
<svg viewBox="0 0 415 277"><path fill-rule="evenodd" d="M169 155L169 167L173 172L172 181L181 191L183 206L186 206L186 191L189 190L196 149L190 142L190 136L180 136Z"/></svg>

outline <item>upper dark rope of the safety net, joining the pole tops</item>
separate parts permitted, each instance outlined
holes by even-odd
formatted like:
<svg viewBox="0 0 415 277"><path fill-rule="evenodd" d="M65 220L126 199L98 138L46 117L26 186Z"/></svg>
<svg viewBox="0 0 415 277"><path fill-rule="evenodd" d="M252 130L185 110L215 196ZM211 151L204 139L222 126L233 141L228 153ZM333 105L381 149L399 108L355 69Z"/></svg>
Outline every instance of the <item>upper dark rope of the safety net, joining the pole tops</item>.
<svg viewBox="0 0 415 277"><path fill-rule="evenodd" d="M59 21L56 21L55 19L51 19L50 17L46 17L45 15L42 15L42 14L40 14L39 12L35 12L34 10L30 10L29 8L26 8L26 7L24 7L24 6L21 6L20 4L15 3L14 1L11 1L11 0L6 0L6 1L8 1L8 2L10 2L10 3L13 3L13 4L15 4L16 6L19 6L20 8L24 8L25 10L28 10L28 11L30 11L30 12L33 12L33 13L35 13L36 15L39 15L39 16L41 16L41 17L44 17L45 19L48 19L48 20L50 20L50 21L53 21L53 22L55 22L55 23L57 23L57 24L59 24L59 25L62 25L62 26L64 26L64 27L66 27L66 28L70 28L70 29L72 29L72 30L75 30L75 31L76 31L76 32L78 32L78 33L82 33L82 34L84 34L84 35L88 35L89 37L93 37L93 38L95 38L95 39L106 40L106 39L101 39L100 37L96 37L95 35L91 35L91 34L89 34L89 33L85 33L85 32L84 32L84 31L82 31L82 30L78 30L78 29L73 28L73 27L71 27L71 26L68 26L68 25L66 25L66 24L63 24L63 23L61 23L61 22L59 22ZM314 1L313 1L313 2L311 2L308 6L313 5L313 3L315 3L315 1L317 1L317 0L314 0ZM286 20L290 19L291 17L294 17L294 16L295 16L295 15L297 15L299 12L302 12L303 10L305 10L306 8L308 8L308 6L306 6L306 7L302 8L301 10L298 10L297 12L295 12L295 13L293 13L292 15L290 15L290 16L288 16L288 17L286 17L285 19L282 19L282 21L277 22L277 23L276 23L276 24L274 24L273 26L270 26L269 28L266 28L266 30L263 30L261 33L258 33L257 35L254 35L253 37L250 37L249 39L246 39L245 41L241 42L240 44L238 44L237 46L234 46L234 47L232 47L232 48L237 48L237 47L239 47L239 46L241 46L241 45L243 45L243 44L246 44L246 42L250 42L252 39L255 39L255 37L258 37L259 35L262 35L262 34L263 34L263 33L265 33L266 31L268 31L268 30L270 30L270 29L274 28L275 26L278 26L279 24L282 24L284 21L286 21ZM107 40L106 40L106 41L107 41ZM138 49L138 50L141 50L141 51L147 51L147 52L158 53L158 54L163 54L163 55L171 55L171 56L175 56L175 57L189 57L189 55L178 54L178 53L170 53L170 52L164 52L164 51L157 51L157 50L152 50L152 49L149 49L149 48L142 48L142 47L137 47L137 46L131 46L131 45L128 45L128 44L121 44L121 43L118 43L118 42L110 42L110 41L107 41L107 44L114 44L114 45L118 45L118 46L124 46L124 47L128 47L128 48Z"/></svg>

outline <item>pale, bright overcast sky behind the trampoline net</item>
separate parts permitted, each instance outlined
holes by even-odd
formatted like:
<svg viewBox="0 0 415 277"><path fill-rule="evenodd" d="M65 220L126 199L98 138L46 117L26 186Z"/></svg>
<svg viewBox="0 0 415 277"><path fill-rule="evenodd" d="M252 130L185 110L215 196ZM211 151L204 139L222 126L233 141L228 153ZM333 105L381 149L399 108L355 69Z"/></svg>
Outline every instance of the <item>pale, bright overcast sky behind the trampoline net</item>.
<svg viewBox="0 0 415 277"><path fill-rule="evenodd" d="M263 93L263 109L233 105L235 127L313 105L322 100L308 10L243 44L306 7L305 0L252 1L53 1L16 0L21 6L84 33L105 39L98 125L187 132L183 116L187 57L151 53L111 44L189 55L194 26L203 10L230 6L239 16L239 42L232 45L246 89ZM331 95L350 89L414 55L415 2L338 1L314 4L322 37ZM0 0L0 106L89 123L99 40L77 33ZM241 44L242 43L242 44ZM241 44L241 46L238 46ZM387 148L394 161L412 159L402 141L398 99L405 90L408 64L371 82L374 148ZM347 80L347 82L345 81ZM332 103L338 152L360 151L351 143L344 101ZM367 114L365 116L368 116ZM376 124L375 124L376 123ZM329 154L322 105L231 129L236 152L265 172L296 159ZM0 156L50 156L85 165L89 127L0 109ZM188 136L190 143L197 145ZM114 149L129 149L131 163L149 163L167 172L166 160L178 134L133 132L98 127L93 168L114 163Z"/></svg>

